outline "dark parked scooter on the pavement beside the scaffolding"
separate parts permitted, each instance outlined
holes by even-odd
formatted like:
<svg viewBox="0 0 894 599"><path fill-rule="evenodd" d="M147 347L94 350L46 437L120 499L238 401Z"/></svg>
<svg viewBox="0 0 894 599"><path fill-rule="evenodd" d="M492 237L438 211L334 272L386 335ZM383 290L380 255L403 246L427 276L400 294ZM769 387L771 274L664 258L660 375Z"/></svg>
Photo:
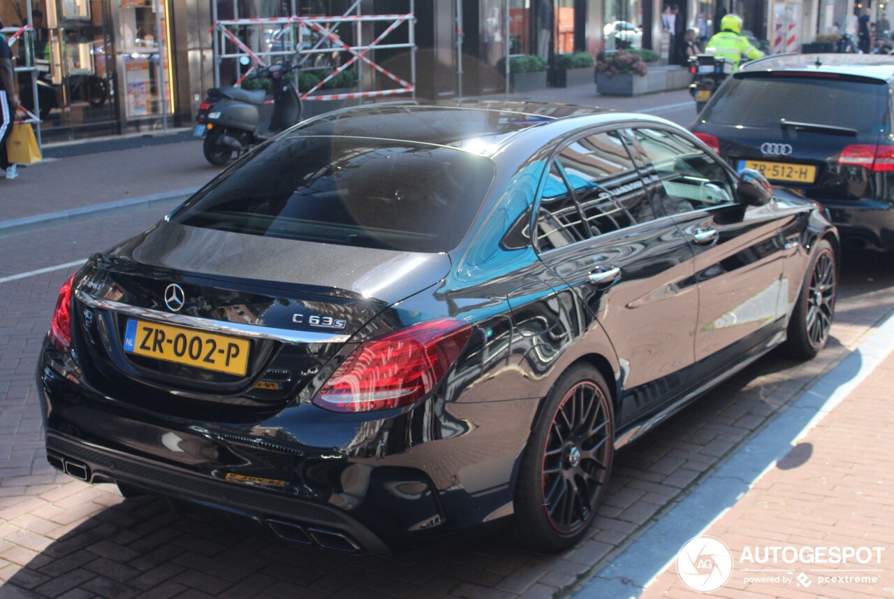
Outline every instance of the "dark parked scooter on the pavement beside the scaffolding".
<svg viewBox="0 0 894 599"><path fill-rule="evenodd" d="M301 120L301 99L288 74L290 64L274 64L255 77L272 81L273 101L263 89L208 89L198 107L193 137L205 137L202 150L212 165L225 165L233 152L240 156Z"/></svg>

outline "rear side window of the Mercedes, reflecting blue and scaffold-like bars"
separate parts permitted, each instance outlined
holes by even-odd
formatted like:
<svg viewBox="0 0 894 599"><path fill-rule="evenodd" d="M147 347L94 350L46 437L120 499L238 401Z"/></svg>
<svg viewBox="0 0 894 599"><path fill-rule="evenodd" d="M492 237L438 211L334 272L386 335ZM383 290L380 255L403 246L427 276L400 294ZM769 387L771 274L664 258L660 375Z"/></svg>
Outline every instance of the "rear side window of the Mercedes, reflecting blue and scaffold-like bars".
<svg viewBox="0 0 894 599"><path fill-rule="evenodd" d="M538 213L539 247L558 248L654 218L619 133L586 135L552 162Z"/></svg>

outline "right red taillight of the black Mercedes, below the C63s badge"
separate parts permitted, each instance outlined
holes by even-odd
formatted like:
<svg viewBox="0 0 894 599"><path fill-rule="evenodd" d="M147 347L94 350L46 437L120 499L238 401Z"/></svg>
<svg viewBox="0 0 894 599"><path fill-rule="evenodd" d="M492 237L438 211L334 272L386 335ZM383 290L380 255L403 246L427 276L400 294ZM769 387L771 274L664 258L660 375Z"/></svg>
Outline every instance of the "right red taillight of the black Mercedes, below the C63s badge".
<svg viewBox="0 0 894 599"><path fill-rule="evenodd" d="M466 347L472 327L437 318L377 337L350 354L314 403L337 412L401 408L421 400Z"/></svg>

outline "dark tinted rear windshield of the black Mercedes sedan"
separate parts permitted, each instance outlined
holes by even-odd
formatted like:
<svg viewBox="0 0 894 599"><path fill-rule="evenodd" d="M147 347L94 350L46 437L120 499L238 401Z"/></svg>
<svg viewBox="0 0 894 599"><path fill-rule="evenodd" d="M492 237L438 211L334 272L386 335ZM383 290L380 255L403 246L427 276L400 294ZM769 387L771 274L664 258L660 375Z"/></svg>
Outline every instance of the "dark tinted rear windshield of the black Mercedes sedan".
<svg viewBox="0 0 894 599"><path fill-rule="evenodd" d="M291 240L450 251L493 181L487 158L402 141L297 137L259 148L171 216Z"/></svg>

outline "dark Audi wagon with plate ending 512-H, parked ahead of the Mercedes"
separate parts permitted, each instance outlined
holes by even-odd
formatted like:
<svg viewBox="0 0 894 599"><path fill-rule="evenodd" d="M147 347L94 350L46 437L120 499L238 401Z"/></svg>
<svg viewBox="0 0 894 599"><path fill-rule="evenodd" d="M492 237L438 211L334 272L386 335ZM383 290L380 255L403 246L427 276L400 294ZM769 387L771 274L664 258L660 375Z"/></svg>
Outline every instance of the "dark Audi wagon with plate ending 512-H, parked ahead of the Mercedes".
<svg viewBox="0 0 894 599"><path fill-rule="evenodd" d="M846 248L894 249L894 56L746 63L690 127L738 170L820 202Z"/></svg>

